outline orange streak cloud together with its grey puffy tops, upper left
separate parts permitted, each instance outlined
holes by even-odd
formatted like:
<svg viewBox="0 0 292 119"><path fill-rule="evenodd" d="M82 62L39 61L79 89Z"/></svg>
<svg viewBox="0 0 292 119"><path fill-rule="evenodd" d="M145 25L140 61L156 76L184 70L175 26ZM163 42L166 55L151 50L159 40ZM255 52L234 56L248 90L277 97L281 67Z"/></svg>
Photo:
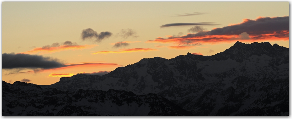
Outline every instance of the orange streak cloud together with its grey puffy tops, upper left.
<svg viewBox="0 0 292 119"><path fill-rule="evenodd" d="M82 50L82 49L91 49L95 46L98 46L96 44L93 45L77 45L76 42L66 41L64 43L61 43L63 45L60 45L60 43L53 43L52 45L46 45L43 47L37 47L30 51L21 52L19 54L51 54L55 52L60 51L66 51L66 50Z"/></svg>

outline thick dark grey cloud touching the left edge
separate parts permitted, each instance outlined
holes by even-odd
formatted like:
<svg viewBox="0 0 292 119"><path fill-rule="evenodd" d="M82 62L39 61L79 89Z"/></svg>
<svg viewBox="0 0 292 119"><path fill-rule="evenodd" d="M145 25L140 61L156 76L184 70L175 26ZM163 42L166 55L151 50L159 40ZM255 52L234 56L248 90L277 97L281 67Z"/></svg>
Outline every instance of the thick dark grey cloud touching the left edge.
<svg viewBox="0 0 292 119"><path fill-rule="evenodd" d="M58 59L30 54L2 54L2 69L13 68L54 68L64 64Z"/></svg>

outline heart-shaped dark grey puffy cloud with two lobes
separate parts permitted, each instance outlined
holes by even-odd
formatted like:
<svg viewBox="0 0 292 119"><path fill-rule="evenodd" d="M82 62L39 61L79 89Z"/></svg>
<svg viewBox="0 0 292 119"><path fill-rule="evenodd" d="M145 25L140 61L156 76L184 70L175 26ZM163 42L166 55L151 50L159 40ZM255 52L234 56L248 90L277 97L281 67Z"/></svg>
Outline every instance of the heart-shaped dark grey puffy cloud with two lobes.
<svg viewBox="0 0 292 119"><path fill-rule="evenodd" d="M99 34L91 28L81 31L82 40L94 39L95 42L101 42L102 39L112 36L112 32L100 32Z"/></svg>

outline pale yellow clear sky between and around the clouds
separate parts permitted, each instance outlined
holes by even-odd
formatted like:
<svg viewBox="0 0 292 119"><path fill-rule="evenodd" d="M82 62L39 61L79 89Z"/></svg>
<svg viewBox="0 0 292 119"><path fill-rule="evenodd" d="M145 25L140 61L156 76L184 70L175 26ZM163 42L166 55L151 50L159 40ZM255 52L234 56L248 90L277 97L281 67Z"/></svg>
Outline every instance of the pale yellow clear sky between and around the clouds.
<svg viewBox="0 0 292 119"><path fill-rule="evenodd" d="M204 12L201 15L174 17L176 14ZM178 55L201 53L214 55L231 47L230 43L202 44L192 49L169 49L155 46L173 46L173 44L145 43L157 37L178 35L193 26L165 27L169 23L214 22L220 25L203 25L208 31L241 23L243 19L255 20L262 17L282 17L289 15L289 2L2 2L2 54L20 53L53 43L72 41L78 45L96 44L91 49L67 50L52 54L41 54L58 58L64 63L103 61L123 66L133 64L142 58L174 58ZM109 31L112 36L101 42L82 41L81 31L91 28L97 33ZM124 39L117 36L121 29L132 29L138 37ZM129 46L113 48L111 43L120 41L141 41ZM245 42L251 43L251 42ZM280 46L289 47L289 40L272 41ZM95 54L97 51L118 51L118 49L150 48L156 51L130 52L120 54ZM209 52L213 50L214 52ZM209 52L209 53L208 53ZM39 54L37 54L39 55ZM93 68L87 72L114 70ZM58 70L59 73L80 73L85 70ZM66 72L67 71L67 72ZM11 70L2 69L2 74ZM86 73L87 73L86 72ZM52 72L53 73L53 72ZM54 72L57 73L57 72ZM23 78L34 84L52 84L60 77L47 77L50 73L18 73L2 76L2 80L11 83Z"/></svg>

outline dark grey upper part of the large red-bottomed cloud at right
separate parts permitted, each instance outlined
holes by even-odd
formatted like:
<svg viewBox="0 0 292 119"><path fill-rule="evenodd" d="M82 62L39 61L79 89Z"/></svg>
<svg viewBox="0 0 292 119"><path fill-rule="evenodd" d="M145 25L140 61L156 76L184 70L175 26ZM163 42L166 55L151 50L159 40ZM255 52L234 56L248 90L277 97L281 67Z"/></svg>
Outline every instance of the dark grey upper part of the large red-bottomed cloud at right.
<svg viewBox="0 0 292 119"><path fill-rule="evenodd" d="M238 35L243 32L249 35L259 35L259 37L261 37L261 34L273 34L276 32L277 35L275 35L275 37L285 37L286 34L280 31L289 31L289 16L274 18L265 17L256 20L245 19L245 21L240 24L216 28L206 32L198 32L196 34L188 34L181 38L205 35Z"/></svg>

